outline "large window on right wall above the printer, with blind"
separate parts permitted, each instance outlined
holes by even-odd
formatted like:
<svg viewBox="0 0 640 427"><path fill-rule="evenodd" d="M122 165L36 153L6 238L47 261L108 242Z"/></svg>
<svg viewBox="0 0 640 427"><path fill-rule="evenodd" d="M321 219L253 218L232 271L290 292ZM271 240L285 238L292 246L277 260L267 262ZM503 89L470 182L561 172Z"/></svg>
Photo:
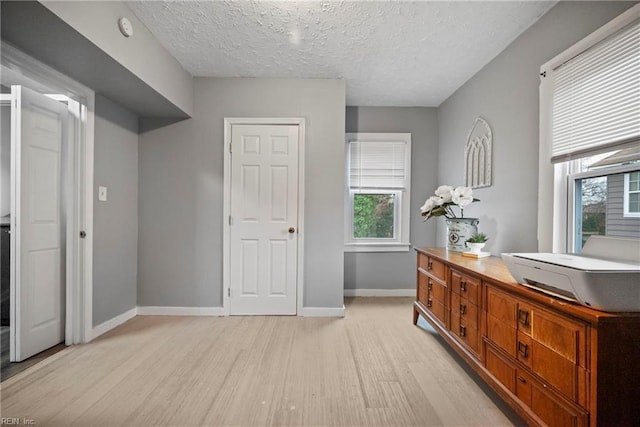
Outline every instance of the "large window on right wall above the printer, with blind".
<svg viewBox="0 0 640 427"><path fill-rule="evenodd" d="M640 237L640 6L544 64L538 249Z"/></svg>

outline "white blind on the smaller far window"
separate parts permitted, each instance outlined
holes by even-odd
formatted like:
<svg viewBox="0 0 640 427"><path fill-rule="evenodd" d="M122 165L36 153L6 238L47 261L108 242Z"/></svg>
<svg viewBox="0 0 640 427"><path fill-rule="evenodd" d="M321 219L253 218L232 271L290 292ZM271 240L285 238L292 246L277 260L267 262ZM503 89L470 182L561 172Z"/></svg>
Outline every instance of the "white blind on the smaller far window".
<svg viewBox="0 0 640 427"><path fill-rule="evenodd" d="M351 189L406 187L407 144L404 141L350 141Z"/></svg>

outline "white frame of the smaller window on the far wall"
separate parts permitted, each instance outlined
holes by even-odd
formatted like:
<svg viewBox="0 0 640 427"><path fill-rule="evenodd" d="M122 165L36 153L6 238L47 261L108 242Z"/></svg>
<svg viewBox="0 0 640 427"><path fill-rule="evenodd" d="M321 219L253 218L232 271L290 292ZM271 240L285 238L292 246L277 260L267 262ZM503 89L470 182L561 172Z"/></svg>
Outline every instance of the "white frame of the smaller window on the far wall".
<svg viewBox="0 0 640 427"><path fill-rule="evenodd" d="M405 186L403 189L364 188L352 189L350 186L350 143L351 142L398 142L406 144L404 171ZM408 252L411 221L411 134L410 133L369 133L349 132L345 135L345 252ZM395 194L394 204L394 238L356 239L353 237L353 200L355 194Z"/></svg>

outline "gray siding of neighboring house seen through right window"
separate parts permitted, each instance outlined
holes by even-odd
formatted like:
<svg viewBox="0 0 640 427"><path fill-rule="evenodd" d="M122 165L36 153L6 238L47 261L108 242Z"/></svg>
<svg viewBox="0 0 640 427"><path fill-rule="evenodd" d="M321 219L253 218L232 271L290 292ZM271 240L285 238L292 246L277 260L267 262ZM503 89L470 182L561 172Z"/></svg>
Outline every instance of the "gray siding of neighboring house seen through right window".
<svg viewBox="0 0 640 427"><path fill-rule="evenodd" d="M607 236L640 238L640 218L624 216L624 174L607 179Z"/></svg>

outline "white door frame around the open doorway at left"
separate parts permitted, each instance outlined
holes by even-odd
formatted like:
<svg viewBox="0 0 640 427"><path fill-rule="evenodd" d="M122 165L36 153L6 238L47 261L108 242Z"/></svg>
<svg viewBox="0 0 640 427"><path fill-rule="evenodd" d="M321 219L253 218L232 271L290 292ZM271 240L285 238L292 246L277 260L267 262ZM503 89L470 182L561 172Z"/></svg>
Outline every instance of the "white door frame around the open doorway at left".
<svg viewBox="0 0 640 427"><path fill-rule="evenodd" d="M65 344L79 344L93 338L93 170L95 93L88 87L25 54L12 45L1 43L2 65L20 70L16 82L30 87L29 82L46 85L55 92L77 101L69 117L69 162L72 189L67 203ZM32 87L38 92L41 88ZM82 105L80 107L79 105ZM13 185L12 185L13 187ZM13 220L12 220L13 221ZM13 222L12 222L13 225ZM80 238L80 231L86 237ZM12 239L12 249L14 248ZM15 264L11 265L12 282ZM12 283L12 286L15 286ZM14 307L12 306L12 310ZM13 315L13 313L12 313Z"/></svg>

